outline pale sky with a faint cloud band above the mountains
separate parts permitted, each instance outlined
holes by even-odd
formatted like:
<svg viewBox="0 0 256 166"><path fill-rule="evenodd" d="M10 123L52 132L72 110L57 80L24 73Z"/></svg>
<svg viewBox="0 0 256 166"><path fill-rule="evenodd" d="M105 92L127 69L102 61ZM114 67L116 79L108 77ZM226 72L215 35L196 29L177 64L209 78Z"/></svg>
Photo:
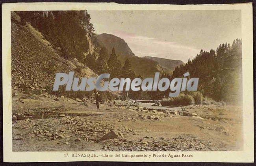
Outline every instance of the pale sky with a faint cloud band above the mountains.
<svg viewBox="0 0 256 166"><path fill-rule="evenodd" d="M182 60L241 38L241 11L88 11L95 33L114 34L136 56Z"/></svg>

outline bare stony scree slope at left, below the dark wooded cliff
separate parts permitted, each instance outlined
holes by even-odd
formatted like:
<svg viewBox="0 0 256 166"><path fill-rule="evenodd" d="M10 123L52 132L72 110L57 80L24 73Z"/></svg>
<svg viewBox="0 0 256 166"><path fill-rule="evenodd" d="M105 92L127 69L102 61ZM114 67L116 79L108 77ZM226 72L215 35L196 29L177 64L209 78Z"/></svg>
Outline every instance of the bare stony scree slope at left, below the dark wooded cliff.
<svg viewBox="0 0 256 166"><path fill-rule="evenodd" d="M97 76L77 60L65 60L50 42L30 24L20 25L19 16L11 19L12 86L31 92L51 91L58 72L75 71L77 77Z"/></svg>

